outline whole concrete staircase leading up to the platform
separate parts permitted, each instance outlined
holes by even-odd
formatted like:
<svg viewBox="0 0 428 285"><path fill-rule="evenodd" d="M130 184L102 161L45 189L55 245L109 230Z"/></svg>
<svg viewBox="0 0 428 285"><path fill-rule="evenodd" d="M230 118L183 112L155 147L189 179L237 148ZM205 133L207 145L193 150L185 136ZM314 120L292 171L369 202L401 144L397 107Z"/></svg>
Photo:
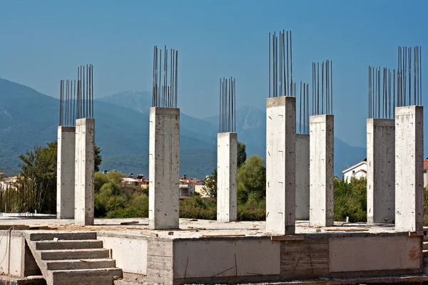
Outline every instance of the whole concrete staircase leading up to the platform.
<svg viewBox="0 0 428 285"><path fill-rule="evenodd" d="M26 242L47 285L112 285L122 277L96 232L30 232Z"/></svg>

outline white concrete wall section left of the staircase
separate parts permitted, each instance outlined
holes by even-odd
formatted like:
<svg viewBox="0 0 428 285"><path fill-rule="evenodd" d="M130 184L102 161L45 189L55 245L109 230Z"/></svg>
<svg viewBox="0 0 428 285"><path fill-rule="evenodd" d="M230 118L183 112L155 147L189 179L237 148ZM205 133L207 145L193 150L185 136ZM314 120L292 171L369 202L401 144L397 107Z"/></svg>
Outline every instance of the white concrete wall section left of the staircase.
<svg viewBox="0 0 428 285"><path fill-rule="evenodd" d="M0 234L0 274L24 277L24 237Z"/></svg>

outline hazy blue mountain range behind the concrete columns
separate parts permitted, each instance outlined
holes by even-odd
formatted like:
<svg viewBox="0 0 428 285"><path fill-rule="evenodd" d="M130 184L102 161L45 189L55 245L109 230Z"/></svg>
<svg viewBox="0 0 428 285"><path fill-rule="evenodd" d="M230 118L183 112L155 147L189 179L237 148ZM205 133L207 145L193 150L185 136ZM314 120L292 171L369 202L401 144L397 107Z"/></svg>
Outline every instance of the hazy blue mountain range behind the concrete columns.
<svg viewBox="0 0 428 285"><path fill-rule="evenodd" d="M36 90L0 78L0 172L19 169L20 153L56 140L59 101ZM149 92L122 92L96 99L96 144L100 169L148 176ZM195 106L195 108L204 108ZM180 113L180 174L210 175L216 166L218 116L198 119ZM248 156L265 157L265 110L242 107L236 113L238 140ZM365 157L364 147L335 138L335 174Z"/></svg>

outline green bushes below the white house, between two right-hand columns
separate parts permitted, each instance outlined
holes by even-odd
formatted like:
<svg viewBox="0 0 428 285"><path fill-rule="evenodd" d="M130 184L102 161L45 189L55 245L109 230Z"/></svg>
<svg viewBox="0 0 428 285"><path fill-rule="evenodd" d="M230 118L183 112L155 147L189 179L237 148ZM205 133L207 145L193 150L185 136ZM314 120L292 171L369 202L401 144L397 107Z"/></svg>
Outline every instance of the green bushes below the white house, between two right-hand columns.
<svg viewBox="0 0 428 285"><path fill-rule="evenodd" d="M367 180L335 180L335 221L367 222Z"/></svg>

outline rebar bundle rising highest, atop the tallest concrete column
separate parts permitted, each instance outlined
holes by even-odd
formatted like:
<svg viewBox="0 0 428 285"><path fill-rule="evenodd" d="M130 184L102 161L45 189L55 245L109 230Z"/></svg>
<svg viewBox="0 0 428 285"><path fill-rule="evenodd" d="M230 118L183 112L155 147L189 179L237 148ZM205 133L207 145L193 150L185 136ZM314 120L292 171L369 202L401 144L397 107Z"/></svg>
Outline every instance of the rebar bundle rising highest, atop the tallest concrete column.
<svg viewBox="0 0 428 285"><path fill-rule="evenodd" d="M280 96L295 97L295 84L292 81L291 31L285 30L280 31L279 43L276 32L272 37L269 33L269 98Z"/></svg>

